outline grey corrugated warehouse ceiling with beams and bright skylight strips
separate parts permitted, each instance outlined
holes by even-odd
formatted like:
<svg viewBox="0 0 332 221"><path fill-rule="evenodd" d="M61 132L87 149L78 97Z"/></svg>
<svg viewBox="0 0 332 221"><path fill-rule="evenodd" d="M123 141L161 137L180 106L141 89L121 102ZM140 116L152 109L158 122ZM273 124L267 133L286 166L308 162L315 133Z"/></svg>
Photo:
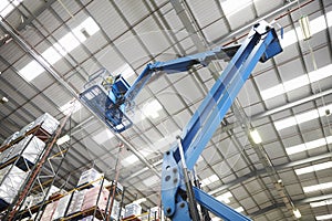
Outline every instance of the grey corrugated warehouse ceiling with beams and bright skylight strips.
<svg viewBox="0 0 332 221"><path fill-rule="evenodd" d="M73 98L102 67L132 84L147 63L240 43L257 21L273 21L278 33L283 28L283 52L256 66L196 176L205 191L257 221L295 220L295 208L301 220L332 214L332 1L13 0L0 10L0 95L9 99L0 104L0 138L45 112L63 122L74 108L61 134L70 145L53 148L70 147L56 183L70 190L87 168L108 180L118 170L125 202L146 198L145 209L160 203L163 152L227 62L159 73L137 96L134 126L122 134ZM305 41L303 15L312 34Z"/></svg>

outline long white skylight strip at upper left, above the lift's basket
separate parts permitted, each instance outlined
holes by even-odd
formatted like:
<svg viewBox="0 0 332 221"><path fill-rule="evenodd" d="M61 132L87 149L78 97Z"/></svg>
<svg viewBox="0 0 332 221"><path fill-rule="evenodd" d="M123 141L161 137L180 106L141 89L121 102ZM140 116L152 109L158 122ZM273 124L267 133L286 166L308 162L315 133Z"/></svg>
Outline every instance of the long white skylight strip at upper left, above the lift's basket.
<svg viewBox="0 0 332 221"><path fill-rule="evenodd" d="M100 30L100 28L92 18L85 19L81 24L73 29L72 32L65 34L52 46L41 53L42 57L48 61L50 65L55 64L62 56L65 56L69 52L86 40L86 35L82 32L83 30L84 33L87 33L87 35L93 35ZM31 61L19 71L20 75L28 82L31 82L43 72L44 69L37 61Z"/></svg>

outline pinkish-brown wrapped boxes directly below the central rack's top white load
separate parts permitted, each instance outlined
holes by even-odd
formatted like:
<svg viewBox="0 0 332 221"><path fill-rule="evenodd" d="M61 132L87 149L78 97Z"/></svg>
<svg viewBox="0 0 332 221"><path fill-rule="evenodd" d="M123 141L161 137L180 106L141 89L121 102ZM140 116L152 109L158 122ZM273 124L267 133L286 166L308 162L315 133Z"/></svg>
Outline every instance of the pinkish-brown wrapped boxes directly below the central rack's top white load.
<svg viewBox="0 0 332 221"><path fill-rule="evenodd" d="M105 188L102 188L100 193L100 189L101 187L94 187L86 191L84 196L82 210L87 210L93 207L97 207L101 211L105 211L110 191ZM98 193L100 193L100 198L98 198Z"/></svg>

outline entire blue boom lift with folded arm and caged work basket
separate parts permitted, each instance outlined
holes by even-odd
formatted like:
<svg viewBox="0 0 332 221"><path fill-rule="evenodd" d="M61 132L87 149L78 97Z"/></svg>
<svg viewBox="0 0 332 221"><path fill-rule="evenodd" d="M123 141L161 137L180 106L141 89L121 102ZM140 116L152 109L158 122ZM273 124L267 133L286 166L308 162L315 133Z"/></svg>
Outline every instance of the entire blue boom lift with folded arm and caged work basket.
<svg viewBox="0 0 332 221"><path fill-rule="evenodd" d="M211 60L232 56L177 137L177 145L164 154L162 201L166 217L175 221L210 220L207 211L224 220L250 220L198 187L193 187L188 172L193 171L257 63L266 62L281 51L273 27L260 21L239 48L217 48L168 62L147 64L132 86L122 76L114 77L106 70L101 70L91 76L80 97L113 131L122 133L133 124L126 113L133 108L135 97L156 72L170 74L188 71L196 64L207 65ZM201 206L200 214L197 203Z"/></svg>

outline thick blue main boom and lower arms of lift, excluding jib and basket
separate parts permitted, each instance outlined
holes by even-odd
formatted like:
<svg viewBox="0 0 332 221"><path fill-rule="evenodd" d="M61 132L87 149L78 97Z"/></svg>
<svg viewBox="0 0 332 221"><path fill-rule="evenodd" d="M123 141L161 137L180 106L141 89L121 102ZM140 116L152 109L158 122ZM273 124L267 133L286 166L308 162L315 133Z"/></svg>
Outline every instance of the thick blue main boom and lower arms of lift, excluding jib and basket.
<svg viewBox="0 0 332 221"><path fill-rule="evenodd" d="M253 27L183 130L181 146L188 170L194 168L259 60L264 62L281 51L279 39L271 25L261 21ZM162 169L162 201L165 214L175 221L191 220L179 147L164 155ZM194 188L194 193L198 203L224 220L250 220L197 188Z"/></svg>

